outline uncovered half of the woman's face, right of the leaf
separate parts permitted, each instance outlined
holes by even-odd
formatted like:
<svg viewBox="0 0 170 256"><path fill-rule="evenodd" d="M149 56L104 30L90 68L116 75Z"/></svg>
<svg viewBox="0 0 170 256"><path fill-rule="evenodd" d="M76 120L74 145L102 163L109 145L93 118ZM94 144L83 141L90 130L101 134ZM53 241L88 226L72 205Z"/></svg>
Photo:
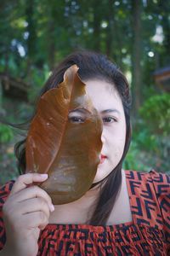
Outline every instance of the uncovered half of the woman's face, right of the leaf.
<svg viewBox="0 0 170 256"><path fill-rule="evenodd" d="M126 138L126 121L122 101L112 84L102 80L85 82L88 95L103 119L103 143L94 183L110 174L122 158Z"/></svg>

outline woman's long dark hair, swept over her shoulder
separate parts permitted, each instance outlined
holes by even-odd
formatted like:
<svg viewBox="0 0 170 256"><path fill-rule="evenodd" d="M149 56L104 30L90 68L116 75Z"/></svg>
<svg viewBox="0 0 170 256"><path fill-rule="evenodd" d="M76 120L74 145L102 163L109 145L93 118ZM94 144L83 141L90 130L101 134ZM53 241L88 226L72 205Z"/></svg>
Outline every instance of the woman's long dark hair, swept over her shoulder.
<svg viewBox="0 0 170 256"><path fill-rule="evenodd" d="M96 202L96 207L91 218L88 220L88 224L93 225L105 225L107 219L111 214L111 210L115 205L116 198L120 192L122 185L122 161L124 160L127 150L129 148L131 140L131 125L130 125L130 106L131 97L129 93L129 86L127 79L122 72L113 64L105 55L100 55L95 52L83 50L69 55L62 61L58 67L56 67L49 77L46 84L43 86L40 95L37 97L37 101L42 94L49 89L56 87L62 82L65 70L71 67L73 64L77 64L79 67L78 73L82 80L88 79L100 79L105 80L113 84L116 88L119 96L122 99L122 105L126 119L126 142L122 159L119 164L112 170L112 172L99 182L100 192L99 198ZM31 119L27 123L29 128ZM26 123L25 123L26 125ZM26 139L16 143L14 147L15 155L18 159L18 167L20 173L26 171ZM95 183L94 185L97 185ZM103 185L104 184L104 185ZM92 187L94 187L94 185ZM103 185L103 186L102 186Z"/></svg>

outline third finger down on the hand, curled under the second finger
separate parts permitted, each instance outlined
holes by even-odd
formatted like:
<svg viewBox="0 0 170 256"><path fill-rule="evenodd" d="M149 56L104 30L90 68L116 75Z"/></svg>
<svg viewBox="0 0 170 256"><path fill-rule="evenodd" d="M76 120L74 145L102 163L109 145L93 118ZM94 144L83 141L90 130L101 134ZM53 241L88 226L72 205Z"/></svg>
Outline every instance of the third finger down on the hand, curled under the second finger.
<svg viewBox="0 0 170 256"><path fill-rule="evenodd" d="M31 212L45 212L49 218L49 207L47 201L42 197L32 198L26 201L20 202L17 207L20 207L20 214L26 215Z"/></svg>

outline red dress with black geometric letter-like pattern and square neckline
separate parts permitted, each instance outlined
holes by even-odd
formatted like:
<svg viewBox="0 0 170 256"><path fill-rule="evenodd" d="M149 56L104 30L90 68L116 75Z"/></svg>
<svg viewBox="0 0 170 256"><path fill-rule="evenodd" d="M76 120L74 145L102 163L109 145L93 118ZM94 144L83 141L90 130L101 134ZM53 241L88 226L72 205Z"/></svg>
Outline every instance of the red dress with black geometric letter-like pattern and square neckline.
<svg viewBox="0 0 170 256"><path fill-rule="evenodd" d="M37 255L170 255L170 178L156 171L125 174L132 222L48 224L39 236ZM0 189L0 249L6 240L2 207L13 183Z"/></svg>

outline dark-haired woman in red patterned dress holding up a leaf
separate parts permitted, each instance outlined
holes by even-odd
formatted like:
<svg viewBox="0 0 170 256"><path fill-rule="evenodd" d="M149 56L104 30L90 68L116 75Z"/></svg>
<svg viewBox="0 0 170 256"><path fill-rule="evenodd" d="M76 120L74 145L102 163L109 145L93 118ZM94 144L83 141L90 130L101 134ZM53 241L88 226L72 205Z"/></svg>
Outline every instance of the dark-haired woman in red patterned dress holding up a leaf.
<svg viewBox="0 0 170 256"><path fill-rule="evenodd" d="M91 188L77 201L53 205L33 185L47 175L22 174L0 190L0 255L167 255L170 248L169 178L122 169L131 138L127 79L104 55L82 51L54 70L41 95L76 64L103 120L100 162ZM82 114L70 113L79 123ZM26 141L15 150L26 172ZM6 235L5 235L6 234Z"/></svg>

